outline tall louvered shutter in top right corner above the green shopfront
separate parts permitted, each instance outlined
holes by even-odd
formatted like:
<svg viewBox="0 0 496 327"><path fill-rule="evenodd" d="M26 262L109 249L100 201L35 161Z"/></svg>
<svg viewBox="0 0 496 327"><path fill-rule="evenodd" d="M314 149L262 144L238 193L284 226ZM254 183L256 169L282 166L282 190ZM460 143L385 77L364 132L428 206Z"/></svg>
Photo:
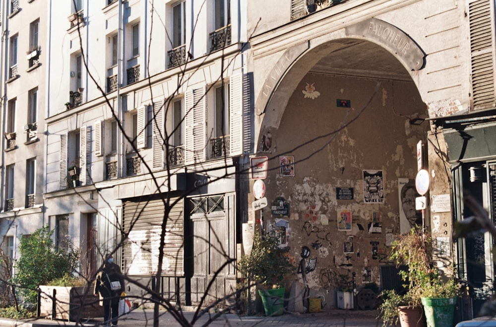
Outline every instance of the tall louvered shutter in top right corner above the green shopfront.
<svg viewBox="0 0 496 327"><path fill-rule="evenodd" d="M474 109L492 108L495 105L494 1L471 1L469 18Z"/></svg>

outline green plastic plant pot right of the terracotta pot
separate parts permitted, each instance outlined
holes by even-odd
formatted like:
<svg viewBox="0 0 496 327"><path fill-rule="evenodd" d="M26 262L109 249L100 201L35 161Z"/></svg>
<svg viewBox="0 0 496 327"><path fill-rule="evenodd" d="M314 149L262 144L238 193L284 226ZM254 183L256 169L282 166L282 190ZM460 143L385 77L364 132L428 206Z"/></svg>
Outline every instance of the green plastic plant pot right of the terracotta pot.
<svg viewBox="0 0 496 327"><path fill-rule="evenodd" d="M428 327L452 327L456 298L421 298Z"/></svg>

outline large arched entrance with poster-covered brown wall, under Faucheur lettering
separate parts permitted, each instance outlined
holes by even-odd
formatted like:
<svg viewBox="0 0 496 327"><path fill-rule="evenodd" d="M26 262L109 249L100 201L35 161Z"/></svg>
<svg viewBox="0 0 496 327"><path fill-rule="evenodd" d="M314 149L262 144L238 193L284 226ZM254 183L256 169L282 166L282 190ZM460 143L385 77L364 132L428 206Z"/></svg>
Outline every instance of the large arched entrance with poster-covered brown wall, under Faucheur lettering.
<svg viewBox="0 0 496 327"><path fill-rule="evenodd" d="M429 131L409 61L373 38L343 33L351 32L310 40L300 54L288 49L265 83L274 88L255 98L256 152L269 158L264 224L286 231L292 258L305 261L301 287L329 307L340 276L355 274L359 289L400 283L385 277L394 268L387 246L410 228L401 194ZM289 213L273 209L278 203ZM302 258L303 249L310 256Z"/></svg>

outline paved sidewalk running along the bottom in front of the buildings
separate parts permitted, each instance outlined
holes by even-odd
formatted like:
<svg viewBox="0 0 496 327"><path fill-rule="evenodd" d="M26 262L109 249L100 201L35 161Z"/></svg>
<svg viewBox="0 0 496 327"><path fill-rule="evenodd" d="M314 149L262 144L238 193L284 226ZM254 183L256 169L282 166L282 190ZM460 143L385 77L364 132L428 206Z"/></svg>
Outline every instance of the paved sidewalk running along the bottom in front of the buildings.
<svg viewBox="0 0 496 327"><path fill-rule="evenodd" d="M193 312L183 313L188 322L193 319ZM382 326L382 321L376 320L376 310L328 310L321 313L314 314L290 314L286 313L277 317L244 317L234 314L221 315L217 320L210 323L209 326L224 327L224 326L237 326L237 327L263 327L263 326L292 326L292 327L378 327ZM213 314L210 314L213 317ZM205 314L194 326L202 326L208 322L209 315ZM72 322L65 322L60 320L49 319L35 319L35 320L11 320L0 318L0 326L15 326L15 327L51 327L51 326L82 326L82 327L95 327L102 326L103 319L95 319L85 321L79 324ZM153 310L136 309L128 315L119 319L121 327L141 327L153 326ZM159 326L176 327L181 326L170 313L160 311Z"/></svg>

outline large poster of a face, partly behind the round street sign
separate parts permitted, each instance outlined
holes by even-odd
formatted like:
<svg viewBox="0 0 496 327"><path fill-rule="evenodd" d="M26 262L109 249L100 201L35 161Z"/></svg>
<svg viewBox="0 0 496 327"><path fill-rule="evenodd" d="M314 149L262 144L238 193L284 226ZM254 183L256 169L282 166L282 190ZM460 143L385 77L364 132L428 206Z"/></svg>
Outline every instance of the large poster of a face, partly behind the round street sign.
<svg viewBox="0 0 496 327"><path fill-rule="evenodd" d="M415 188L415 179L398 179L398 199L400 211L400 233L409 232L415 225L422 226L422 211L415 209L415 198L420 196Z"/></svg>

